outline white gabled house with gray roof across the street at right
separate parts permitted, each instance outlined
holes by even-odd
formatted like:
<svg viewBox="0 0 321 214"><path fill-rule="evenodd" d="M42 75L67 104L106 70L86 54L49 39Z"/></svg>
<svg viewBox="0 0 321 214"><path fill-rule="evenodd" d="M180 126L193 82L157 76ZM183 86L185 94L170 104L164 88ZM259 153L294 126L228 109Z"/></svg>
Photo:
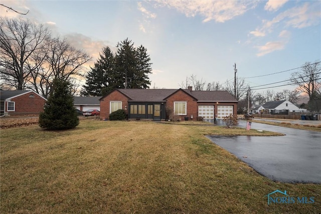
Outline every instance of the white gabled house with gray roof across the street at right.
<svg viewBox="0 0 321 214"><path fill-rule="evenodd" d="M278 114L284 112L306 112L288 100L269 101L261 106L265 114Z"/></svg>

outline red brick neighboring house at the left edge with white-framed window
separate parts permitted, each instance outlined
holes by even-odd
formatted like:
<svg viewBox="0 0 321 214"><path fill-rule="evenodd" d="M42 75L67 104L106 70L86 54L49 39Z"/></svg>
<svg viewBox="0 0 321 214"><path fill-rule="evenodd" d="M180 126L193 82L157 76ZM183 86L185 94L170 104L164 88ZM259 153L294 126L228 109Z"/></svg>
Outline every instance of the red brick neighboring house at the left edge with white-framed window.
<svg viewBox="0 0 321 214"><path fill-rule="evenodd" d="M32 90L0 90L0 112L6 114L39 114L47 99Z"/></svg>

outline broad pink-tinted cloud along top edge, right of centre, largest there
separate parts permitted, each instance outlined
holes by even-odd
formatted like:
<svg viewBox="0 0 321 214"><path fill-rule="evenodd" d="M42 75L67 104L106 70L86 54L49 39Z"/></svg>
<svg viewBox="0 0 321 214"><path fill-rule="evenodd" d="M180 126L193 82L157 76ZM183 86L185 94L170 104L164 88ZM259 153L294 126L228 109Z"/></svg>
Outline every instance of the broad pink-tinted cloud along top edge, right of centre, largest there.
<svg viewBox="0 0 321 214"><path fill-rule="evenodd" d="M203 22L224 23L253 9L257 1L153 1L154 7L174 8L187 17L202 16Z"/></svg>

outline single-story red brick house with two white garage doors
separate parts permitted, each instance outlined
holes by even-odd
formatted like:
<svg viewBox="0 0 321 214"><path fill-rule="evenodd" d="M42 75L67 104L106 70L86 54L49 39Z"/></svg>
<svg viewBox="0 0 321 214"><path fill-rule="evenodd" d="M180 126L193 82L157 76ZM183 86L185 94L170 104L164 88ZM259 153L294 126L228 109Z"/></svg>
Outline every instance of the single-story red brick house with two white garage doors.
<svg viewBox="0 0 321 214"><path fill-rule="evenodd" d="M117 88L100 98L100 116L123 109L128 119L165 120L171 109L181 120L223 119L236 114L237 100L228 91L193 91L188 89L123 89Z"/></svg>

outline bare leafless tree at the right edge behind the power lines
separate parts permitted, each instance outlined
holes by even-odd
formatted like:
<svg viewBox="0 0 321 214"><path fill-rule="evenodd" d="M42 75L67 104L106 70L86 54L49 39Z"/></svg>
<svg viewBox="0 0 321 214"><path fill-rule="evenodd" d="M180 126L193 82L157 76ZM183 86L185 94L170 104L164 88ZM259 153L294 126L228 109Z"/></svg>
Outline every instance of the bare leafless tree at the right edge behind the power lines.
<svg viewBox="0 0 321 214"><path fill-rule="evenodd" d="M311 99L315 92L320 94L320 71L320 62L306 62L301 71L291 74L291 82L298 85L298 90L308 94Z"/></svg>

